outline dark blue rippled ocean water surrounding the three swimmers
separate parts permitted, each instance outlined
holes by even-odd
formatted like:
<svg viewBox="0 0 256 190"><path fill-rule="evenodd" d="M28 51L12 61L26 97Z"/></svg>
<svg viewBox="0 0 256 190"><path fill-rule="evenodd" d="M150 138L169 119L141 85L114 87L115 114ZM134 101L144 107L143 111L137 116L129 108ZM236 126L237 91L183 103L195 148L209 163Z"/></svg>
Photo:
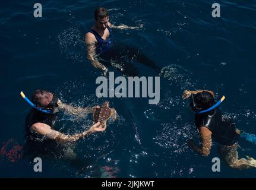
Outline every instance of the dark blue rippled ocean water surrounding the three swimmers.
<svg viewBox="0 0 256 190"><path fill-rule="evenodd" d="M211 16L220 4L221 17ZM217 144L201 157L187 145L197 137L186 89L209 89L221 109L238 128L256 134L255 42L256 1L43 1L43 17L34 18L34 1L1 2L1 128L0 143L14 139L26 146L25 119L30 106L20 97L37 88L58 93L74 106L109 101L118 120L106 132L72 144L80 162L56 157L43 159L43 172L34 172L33 157L17 162L0 160L7 178L255 178L256 170L235 170L221 162L212 172L211 159L219 157ZM102 98L95 95L101 75L86 59L84 35L94 24L93 11L109 9L110 22L143 29L114 30L113 36L144 52L163 68L160 102L148 99ZM154 76L144 65L141 75ZM110 71L113 71L110 68ZM116 75L121 75L115 71ZM56 128L68 134L83 131L87 118L62 114ZM240 140L239 156L256 157L255 145Z"/></svg>

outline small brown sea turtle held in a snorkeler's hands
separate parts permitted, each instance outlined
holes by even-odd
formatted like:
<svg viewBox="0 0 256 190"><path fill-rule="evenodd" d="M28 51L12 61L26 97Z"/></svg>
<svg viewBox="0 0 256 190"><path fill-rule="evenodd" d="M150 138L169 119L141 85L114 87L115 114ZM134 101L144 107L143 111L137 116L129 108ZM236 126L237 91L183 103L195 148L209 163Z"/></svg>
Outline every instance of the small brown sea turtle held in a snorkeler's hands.
<svg viewBox="0 0 256 190"><path fill-rule="evenodd" d="M115 108L109 107L109 102L104 102L99 109L93 113L93 121L95 123L100 122L102 128L106 126L106 122L112 117L113 121L116 120Z"/></svg>

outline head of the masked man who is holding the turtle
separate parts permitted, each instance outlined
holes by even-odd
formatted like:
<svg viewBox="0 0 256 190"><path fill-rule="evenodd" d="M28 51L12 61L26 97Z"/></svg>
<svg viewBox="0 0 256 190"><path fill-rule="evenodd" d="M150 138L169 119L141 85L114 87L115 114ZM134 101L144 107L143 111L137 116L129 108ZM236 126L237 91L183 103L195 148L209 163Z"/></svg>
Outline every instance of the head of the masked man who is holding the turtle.
<svg viewBox="0 0 256 190"><path fill-rule="evenodd" d="M58 107L58 96L47 90L36 90L31 97L31 102L37 107L55 111L55 108Z"/></svg>

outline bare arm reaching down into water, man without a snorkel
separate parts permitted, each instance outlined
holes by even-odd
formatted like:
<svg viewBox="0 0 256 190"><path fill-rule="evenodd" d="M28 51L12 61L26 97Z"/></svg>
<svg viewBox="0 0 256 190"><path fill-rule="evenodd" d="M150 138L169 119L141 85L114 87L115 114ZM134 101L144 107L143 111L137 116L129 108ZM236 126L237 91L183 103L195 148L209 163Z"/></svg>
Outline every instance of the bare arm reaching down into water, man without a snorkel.
<svg viewBox="0 0 256 190"><path fill-rule="evenodd" d="M86 47L87 47L87 59L89 59L89 61L95 68L101 69L103 71L103 74L106 76L108 69L106 68L106 66L101 64L96 57L97 40L96 40L95 36L93 34L91 34L90 32L88 32L88 33L86 33L85 41L86 41Z"/></svg>

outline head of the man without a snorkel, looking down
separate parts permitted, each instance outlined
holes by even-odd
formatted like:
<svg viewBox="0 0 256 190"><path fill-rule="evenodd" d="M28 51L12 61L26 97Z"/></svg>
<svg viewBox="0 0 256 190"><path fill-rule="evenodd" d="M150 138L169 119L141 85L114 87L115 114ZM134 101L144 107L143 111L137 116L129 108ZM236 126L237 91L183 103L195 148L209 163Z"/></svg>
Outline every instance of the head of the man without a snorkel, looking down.
<svg viewBox="0 0 256 190"><path fill-rule="evenodd" d="M104 31L109 21L109 11L103 7L99 7L94 11L95 26Z"/></svg>

